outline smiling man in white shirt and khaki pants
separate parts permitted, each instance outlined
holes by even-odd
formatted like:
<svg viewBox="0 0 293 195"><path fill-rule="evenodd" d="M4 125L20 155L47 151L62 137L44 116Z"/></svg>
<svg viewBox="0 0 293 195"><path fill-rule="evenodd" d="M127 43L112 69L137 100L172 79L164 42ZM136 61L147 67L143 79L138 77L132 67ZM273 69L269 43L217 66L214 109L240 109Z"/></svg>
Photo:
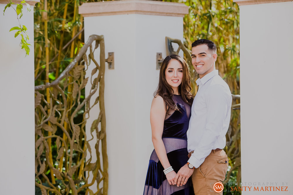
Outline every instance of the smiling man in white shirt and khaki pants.
<svg viewBox="0 0 293 195"><path fill-rule="evenodd" d="M222 194L214 184L223 182L228 168L226 132L230 123L232 97L229 86L215 68L217 47L207 39L192 44L193 68L199 75L198 91L191 108L187 131L189 160L177 173L175 184L184 185L192 175L195 195Z"/></svg>

